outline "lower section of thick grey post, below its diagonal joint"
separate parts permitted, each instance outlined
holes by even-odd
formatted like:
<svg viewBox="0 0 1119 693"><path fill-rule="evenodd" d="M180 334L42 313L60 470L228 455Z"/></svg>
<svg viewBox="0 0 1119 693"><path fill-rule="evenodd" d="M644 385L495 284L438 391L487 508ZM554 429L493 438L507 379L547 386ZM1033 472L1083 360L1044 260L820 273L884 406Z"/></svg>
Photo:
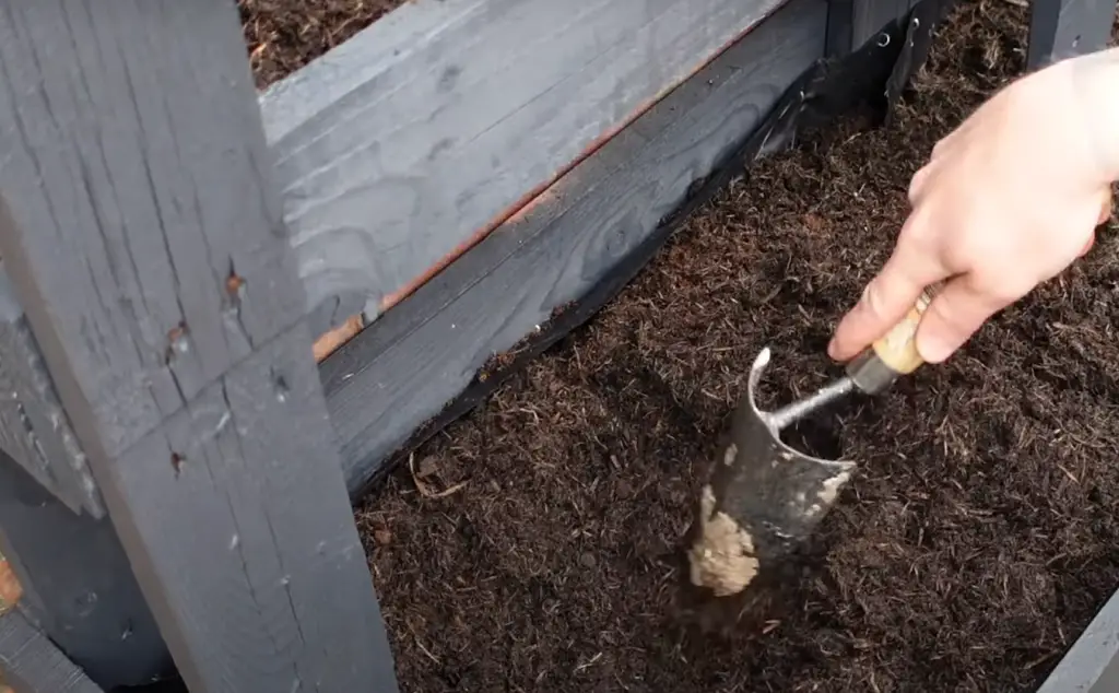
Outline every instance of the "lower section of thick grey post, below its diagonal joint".
<svg viewBox="0 0 1119 693"><path fill-rule="evenodd" d="M191 691L395 690L309 338L265 345L110 470Z"/></svg>

